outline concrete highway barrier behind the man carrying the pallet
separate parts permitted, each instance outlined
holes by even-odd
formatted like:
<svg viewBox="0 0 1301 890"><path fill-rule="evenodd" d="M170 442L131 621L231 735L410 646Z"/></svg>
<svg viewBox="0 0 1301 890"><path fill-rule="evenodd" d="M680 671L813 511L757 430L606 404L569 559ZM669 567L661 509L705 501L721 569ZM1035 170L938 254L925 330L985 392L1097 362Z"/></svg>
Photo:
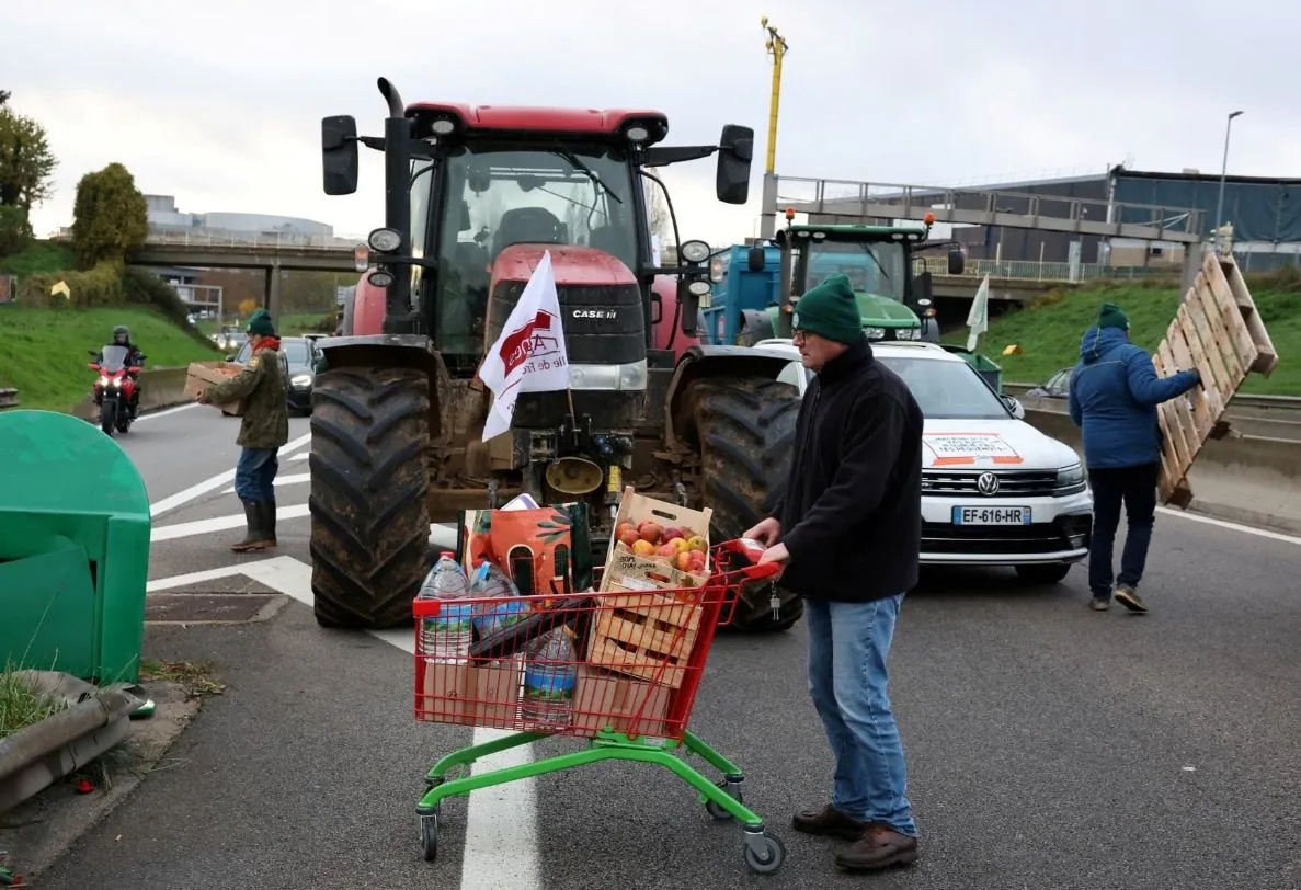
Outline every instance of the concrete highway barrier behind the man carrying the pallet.
<svg viewBox="0 0 1301 890"><path fill-rule="evenodd" d="M1019 397L1025 420L1082 454L1064 399ZM1189 510L1227 522L1301 535L1301 441L1237 432L1207 441L1188 474Z"/></svg>

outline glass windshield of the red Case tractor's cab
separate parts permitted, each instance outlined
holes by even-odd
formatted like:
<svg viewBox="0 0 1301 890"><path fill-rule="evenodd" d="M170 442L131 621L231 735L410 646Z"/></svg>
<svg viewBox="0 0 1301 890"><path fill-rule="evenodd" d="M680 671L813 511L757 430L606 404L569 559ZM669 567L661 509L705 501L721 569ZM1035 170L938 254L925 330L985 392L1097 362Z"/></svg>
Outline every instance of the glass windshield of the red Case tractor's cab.
<svg viewBox="0 0 1301 890"><path fill-rule="evenodd" d="M481 355L488 347L490 269L511 245L596 247L637 268L643 222L619 148L471 142L448 156L440 178L435 314L444 354Z"/></svg>

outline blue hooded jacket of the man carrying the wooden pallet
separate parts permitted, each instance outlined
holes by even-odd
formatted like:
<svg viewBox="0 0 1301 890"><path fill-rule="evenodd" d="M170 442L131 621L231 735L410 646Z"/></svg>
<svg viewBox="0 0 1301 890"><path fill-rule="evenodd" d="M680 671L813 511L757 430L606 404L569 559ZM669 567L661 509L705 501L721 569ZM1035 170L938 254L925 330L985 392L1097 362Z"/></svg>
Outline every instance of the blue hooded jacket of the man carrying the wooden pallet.
<svg viewBox="0 0 1301 890"><path fill-rule="evenodd" d="M1196 386L1196 371L1158 377L1151 357L1120 328L1089 328L1071 373L1071 420L1090 470L1160 462L1157 406Z"/></svg>

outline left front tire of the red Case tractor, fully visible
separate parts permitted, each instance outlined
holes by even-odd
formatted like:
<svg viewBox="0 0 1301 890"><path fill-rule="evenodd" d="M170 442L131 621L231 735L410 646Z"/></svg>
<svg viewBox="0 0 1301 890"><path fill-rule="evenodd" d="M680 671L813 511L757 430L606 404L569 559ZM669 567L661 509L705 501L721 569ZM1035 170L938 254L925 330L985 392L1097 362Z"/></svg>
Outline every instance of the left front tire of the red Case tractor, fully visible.
<svg viewBox="0 0 1301 890"><path fill-rule="evenodd" d="M316 377L312 596L323 627L410 626L429 541L429 379L410 368Z"/></svg>

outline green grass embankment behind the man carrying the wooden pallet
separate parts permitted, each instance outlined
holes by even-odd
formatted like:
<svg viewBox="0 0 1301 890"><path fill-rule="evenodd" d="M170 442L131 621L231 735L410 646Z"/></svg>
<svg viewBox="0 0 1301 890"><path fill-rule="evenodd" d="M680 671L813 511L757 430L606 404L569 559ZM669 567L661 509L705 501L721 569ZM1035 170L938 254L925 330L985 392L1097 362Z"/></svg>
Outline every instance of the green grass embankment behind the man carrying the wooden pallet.
<svg viewBox="0 0 1301 890"><path fill-rule="evenodd" d="M1252 299L1270 332L1279 364L1270 377L1248 375L1239 390L1252 396L1301 396L1301 272L1246 276ZM1180 290L1168 285L1086 285L1077 290L1053 290L1028 303L991 317L978 351L1003 367L1007 383L1036 384L1080 360L1080 337L1097 320L1102 303L1120 306L1129 316L1131 338L1154 353L1179 311ZM945 342L967 342L967 328L945 334ZM1012 344L1021 355L999 355Z"/></svg>

